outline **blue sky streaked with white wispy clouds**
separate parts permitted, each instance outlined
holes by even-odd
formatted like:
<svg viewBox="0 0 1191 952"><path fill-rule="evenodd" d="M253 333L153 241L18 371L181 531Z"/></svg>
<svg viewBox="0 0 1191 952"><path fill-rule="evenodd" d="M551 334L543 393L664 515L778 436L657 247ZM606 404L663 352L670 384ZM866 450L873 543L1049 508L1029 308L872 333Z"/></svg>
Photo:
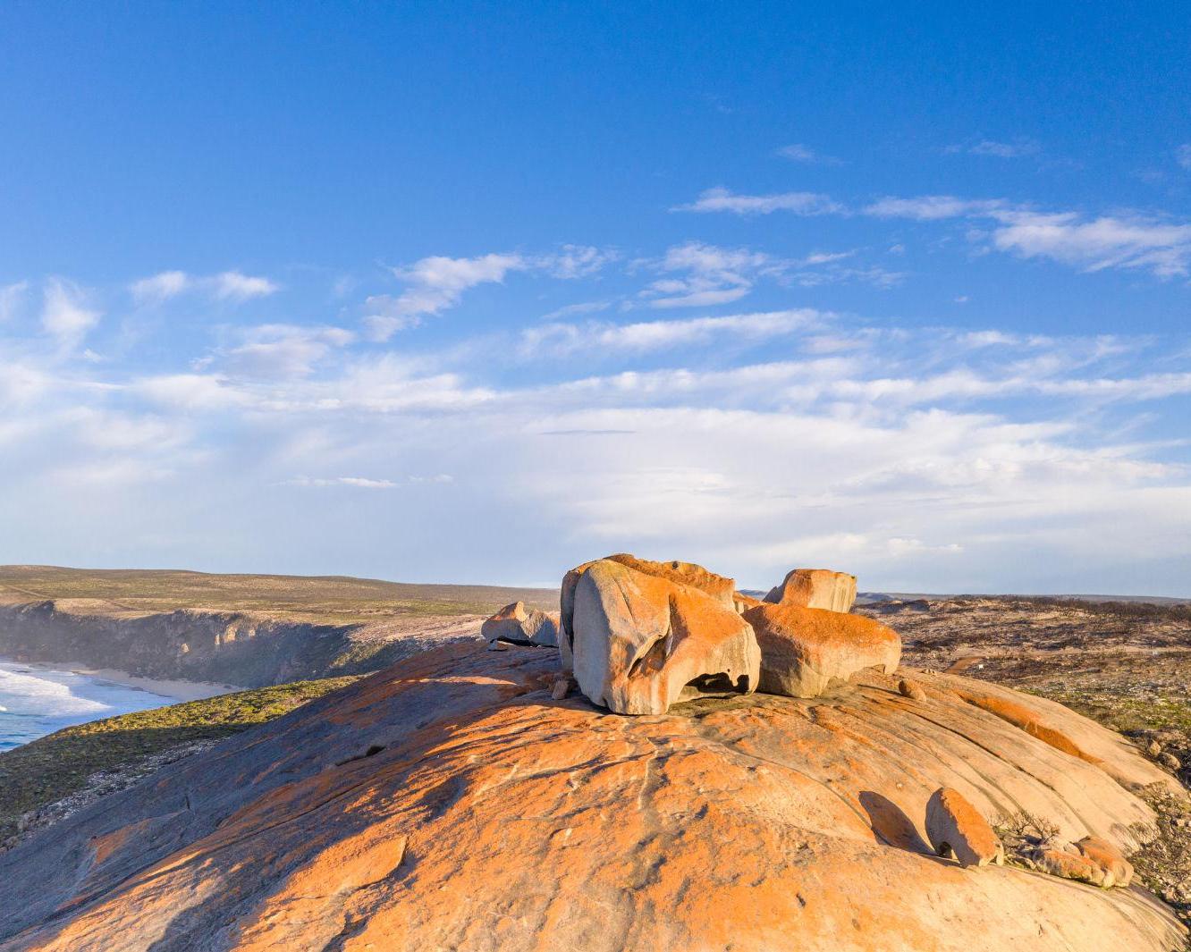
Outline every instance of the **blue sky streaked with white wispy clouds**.
<svg viewBox="0 0 1191 952"><path fill-rule="evenodd" d="M0 562L1191 595L1176 4L0 8Z"/></svg>

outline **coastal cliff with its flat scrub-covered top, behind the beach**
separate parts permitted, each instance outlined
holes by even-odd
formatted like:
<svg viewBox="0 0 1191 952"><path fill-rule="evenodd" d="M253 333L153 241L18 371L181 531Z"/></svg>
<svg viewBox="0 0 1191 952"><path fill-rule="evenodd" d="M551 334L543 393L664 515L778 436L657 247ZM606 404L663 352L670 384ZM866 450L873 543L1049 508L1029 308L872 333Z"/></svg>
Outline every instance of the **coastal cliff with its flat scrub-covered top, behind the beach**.
<svg viewBox="0 0 1191 952"><path fill-rule="evenodd" d="M0 656L244 688L375 671L550 593L341 577L0 566Z"/></svg>

